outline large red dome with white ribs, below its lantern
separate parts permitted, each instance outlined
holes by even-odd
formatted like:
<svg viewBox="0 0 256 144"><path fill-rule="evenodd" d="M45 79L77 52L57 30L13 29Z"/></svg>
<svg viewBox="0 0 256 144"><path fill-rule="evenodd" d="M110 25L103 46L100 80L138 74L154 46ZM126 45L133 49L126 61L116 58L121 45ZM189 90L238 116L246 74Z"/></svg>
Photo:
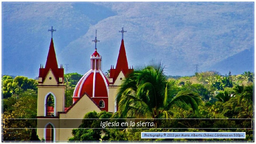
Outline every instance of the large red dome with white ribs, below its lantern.
<svg viewBox="0 0 256 144"><path fill-rule="evenodd" d="M109 81L101 70L90 70L79 80L75 86L73 98L79 98L83 94L89 97L108 97Z"/></svg>

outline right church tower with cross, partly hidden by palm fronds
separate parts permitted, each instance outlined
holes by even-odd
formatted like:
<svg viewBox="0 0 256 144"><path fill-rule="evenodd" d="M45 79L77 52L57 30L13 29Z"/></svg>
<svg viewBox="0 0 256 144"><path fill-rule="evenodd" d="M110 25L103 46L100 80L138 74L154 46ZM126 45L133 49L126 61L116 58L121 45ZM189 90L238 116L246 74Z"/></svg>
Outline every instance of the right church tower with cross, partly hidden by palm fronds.
<svg viewBox="0 0 256 144"><path fill-rule="evenodd" d="M115 101L115 96L117 94L117 90L119 88L119 85L121 85L121 81L123 78L127 77L127 74L133 72L133 68L129 69L128 62L126 58L126 52L125 52L125 45L123 42L123 33L126 33L127 31L123 30L119 31L122 33L122 41L121 46L119 49L119 54L117 58L117 65L114 68L114 66L110 68L110 76L109 76L109 112L117 112L118 106Z"/></svg>

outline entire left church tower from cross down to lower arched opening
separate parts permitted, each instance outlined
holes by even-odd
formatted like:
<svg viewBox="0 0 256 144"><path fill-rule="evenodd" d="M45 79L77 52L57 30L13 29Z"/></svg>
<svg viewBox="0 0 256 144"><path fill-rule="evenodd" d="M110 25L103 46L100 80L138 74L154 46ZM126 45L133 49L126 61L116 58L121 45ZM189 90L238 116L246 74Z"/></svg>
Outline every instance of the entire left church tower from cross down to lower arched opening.
<svg viewBox="0 0 256 144"><path fill-rule="evenodd" d="M45 67L40 66L37 94L37 134L46 141L58 141L59 134L58 113L64 112L64 69L58 67L53 45L53 27L51 27L51 42ZM50 118L50 119L49 119Z"/></svg>

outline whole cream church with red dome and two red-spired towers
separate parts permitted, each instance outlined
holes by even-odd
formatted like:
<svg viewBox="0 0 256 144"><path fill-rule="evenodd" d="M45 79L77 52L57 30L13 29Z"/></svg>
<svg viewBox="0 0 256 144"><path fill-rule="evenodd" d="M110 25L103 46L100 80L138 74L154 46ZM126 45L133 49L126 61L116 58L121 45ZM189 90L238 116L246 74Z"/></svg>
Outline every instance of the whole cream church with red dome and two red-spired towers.
<svg viewBox="0 0 256 144"><path fill-rule="evenodd" d="M109 78L102 72L102 58L97 52L97 30L95 49L90 55L90 69L79 80L73 93L73 105L65 107L65 89L63 65L58 66L54 50L53 32L45 67L39 68L37 97L37 135L45 141L68 141L72 137L72 129L78 128L84 115L91 111L118 110L115 95L123 78L133 72L128 67L125 45L122 41L117 55L116 67L111 65ZM88 57L89 59L89 57ZM72 124L71 124L72 123Z"/></svg>

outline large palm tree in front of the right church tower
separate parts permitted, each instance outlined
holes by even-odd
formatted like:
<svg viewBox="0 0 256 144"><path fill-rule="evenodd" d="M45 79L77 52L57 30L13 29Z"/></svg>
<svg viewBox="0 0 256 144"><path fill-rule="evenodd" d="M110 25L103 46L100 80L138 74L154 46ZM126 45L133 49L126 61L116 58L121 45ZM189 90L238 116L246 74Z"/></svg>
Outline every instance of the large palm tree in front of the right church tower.
<svg viewBox="0 0 256 144"><path fill-rule="evenodd" d="M121 117L170 118L171 110L178 107L198 110L202 103L199 95L190 91L173 95L175 81L166 79L164 69L161 61L151 61L122 81L116 96Z"/></svg>

